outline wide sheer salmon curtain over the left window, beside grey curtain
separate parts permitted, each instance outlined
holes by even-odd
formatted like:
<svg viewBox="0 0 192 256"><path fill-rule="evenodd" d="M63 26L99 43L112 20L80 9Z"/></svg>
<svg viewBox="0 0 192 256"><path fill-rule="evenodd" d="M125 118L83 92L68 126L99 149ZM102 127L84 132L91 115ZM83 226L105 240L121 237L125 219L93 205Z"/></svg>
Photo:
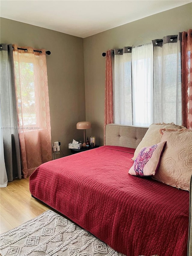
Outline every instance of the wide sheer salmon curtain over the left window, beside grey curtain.
<svg viewBox="0 0 192 256"><path fill-rule="evenodd" d="M18 50L26 48L26 50ZM24 178L50 161L51 126L46 53L13 45L19 144Z"/></svg>

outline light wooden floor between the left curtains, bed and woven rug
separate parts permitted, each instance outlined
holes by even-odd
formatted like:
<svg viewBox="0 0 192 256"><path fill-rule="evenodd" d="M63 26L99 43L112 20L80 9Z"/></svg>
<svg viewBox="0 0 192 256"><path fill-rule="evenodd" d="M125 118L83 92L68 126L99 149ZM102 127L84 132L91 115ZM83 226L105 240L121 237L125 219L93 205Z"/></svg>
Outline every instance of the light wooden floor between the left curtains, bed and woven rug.
<svg viewBox="0 0 192 256"><path fill-rule="evenodd" d="M31 196L29 178L8 182L6 188L0 188L0 233L7 232L48 209L51 208Z"/></svg>

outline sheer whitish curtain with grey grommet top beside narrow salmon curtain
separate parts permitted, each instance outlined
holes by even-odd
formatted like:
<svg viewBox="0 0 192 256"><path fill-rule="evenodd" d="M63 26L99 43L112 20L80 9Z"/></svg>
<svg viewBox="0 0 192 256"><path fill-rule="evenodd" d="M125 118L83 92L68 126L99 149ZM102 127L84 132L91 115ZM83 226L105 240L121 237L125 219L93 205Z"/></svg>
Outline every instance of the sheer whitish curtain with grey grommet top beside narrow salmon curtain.
<svg viewBox="0 0 192 256"><path fill-rule="evenodd" d="M114 50L114 123L132 125L131 47Z"/></svg>

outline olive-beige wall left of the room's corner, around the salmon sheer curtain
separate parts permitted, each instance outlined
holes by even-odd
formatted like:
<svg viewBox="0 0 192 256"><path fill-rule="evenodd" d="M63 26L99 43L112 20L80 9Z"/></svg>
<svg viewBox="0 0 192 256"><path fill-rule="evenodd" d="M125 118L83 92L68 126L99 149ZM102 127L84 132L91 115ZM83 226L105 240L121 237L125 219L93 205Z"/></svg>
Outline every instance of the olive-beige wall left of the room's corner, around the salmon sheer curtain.
<svg viewBox="0 0 192 256"><path fill-rule="evenodd" d="M83 138L76 130L85 120L83 39L4 18L0 22L1 43L51 51L46 62L52 143L60 141L64 155L70 154L68 143Z"/></svg>

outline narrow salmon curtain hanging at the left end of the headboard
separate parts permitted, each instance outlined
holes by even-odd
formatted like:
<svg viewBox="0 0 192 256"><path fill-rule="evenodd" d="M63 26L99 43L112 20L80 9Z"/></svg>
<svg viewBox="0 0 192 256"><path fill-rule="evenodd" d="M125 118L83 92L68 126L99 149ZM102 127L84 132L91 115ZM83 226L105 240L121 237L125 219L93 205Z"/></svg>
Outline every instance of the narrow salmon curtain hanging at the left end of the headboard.
<svg viewBox="0 0 192 256"><path fill-rule="evenodd" d="M105 109L104 109L104 145L105 127L113 123L113 74L111 50L106 53L105 64Z"/></svg>

